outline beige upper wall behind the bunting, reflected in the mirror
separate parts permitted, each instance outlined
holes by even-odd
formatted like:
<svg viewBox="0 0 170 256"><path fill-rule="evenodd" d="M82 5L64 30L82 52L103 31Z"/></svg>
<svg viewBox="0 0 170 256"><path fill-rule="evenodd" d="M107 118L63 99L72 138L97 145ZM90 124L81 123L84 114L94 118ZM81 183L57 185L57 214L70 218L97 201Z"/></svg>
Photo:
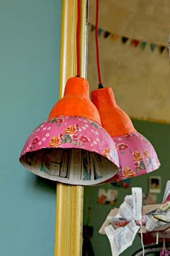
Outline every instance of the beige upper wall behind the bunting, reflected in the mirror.
<svg viewBox="0 0 170 256"><path fill-rule="evenodd" d="M158 47L151 51L149 43L167 45L169 37L170 1L99 1L99 27L131 39L148 42L144 50L134 47L130 40L123 44L99 36L99 56L104 87L112 87L117 103L130 116L137 119L170 123L170 66L165 49L162 54ZM121 5L124 2L125 5ZM128 3L133 3L132 7ZM155 1L154 1L155 3ZM160 4L158 8L158 3ZM94 4L89 5L89 22L94 24ZM143 9L142 8L143 5ZM166 7L169 8L166 9ZM110 7L110 8L109 8ZM112 7L112 11L110 11ZM101 11L102 10L102 11ZM161 13L161 11L164 13ZM117 12L116 12L117 11ZM115 13L116 12L116 13ZM131 16L130 16L131 14ZM155 17L155 18L154 18ZM156 20L157 17L157 20ZM137 26L139 25L139 27ZM89 29L88 80L91 90L97 89L97 65L94 46L94 32Z"/></svg>

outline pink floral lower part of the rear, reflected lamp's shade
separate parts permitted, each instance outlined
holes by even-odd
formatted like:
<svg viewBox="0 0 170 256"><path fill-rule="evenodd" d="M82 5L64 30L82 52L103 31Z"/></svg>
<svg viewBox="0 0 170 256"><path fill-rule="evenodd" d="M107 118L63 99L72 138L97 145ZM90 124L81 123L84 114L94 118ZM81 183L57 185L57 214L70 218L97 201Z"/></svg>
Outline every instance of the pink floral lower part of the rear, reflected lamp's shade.
<svg viewBox="0 0 170 256"><path fill-rule="evenodd" d="M134 132L112 139L117 147L120 169L109 182L147 174L159 168L156 151L151 142L140 133Z"/></svg>

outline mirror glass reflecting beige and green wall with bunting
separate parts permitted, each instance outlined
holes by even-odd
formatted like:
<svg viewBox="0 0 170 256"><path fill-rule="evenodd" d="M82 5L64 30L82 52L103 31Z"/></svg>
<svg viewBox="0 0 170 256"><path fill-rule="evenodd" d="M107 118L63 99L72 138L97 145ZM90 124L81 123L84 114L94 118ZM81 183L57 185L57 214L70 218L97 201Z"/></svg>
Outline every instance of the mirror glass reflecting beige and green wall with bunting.
<svg viewBox="0 0 170 256"><path fill-rule="evenodd" d="M94 41L95 3L89 1L87 79L98 88ZM99 59L102 83L112 87L117 104L131 117L135 129L151 141L161 167L128 184L103 184L84 188L84 226L94 255L112 255L107 236L99 234L112 208L119 208L132 187L142 187L143 204L161 203L170 178L169 38L170 3L161 1L99 1ZM151 176L161 178L161 191L150 193ZM116 185L116 186L115 186ZM119 187L120 186L120 187ZM106 200L109 193L115 199ZM104 195L104 196L103 196ZM107 198L108 199L108 198ZM91 227L91 228L90 228ZM122 256L141 248L140 237Z"/></svg>

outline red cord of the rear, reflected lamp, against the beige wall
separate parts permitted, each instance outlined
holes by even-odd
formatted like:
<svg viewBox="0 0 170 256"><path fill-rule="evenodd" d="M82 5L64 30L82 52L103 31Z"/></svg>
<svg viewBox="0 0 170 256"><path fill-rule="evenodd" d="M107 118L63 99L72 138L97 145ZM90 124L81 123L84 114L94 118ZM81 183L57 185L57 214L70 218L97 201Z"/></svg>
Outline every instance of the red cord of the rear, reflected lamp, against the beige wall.
<svg viewBox="0 0 170 256"><path fill-rule="evenodd" d="M103 88L101 74L100 74L100 67L99 67L98 17L99 17L99 0L96 0L95 42L96 42L96 53L97 53L97 73L98 73L99 88Z"/></svg>

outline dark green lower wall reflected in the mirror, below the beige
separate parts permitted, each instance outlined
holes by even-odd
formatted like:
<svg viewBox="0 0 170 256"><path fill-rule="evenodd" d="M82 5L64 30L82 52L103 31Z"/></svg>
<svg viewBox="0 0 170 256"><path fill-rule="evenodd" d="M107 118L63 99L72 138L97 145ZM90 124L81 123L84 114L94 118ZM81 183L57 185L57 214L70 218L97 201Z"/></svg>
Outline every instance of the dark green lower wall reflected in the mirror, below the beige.
<svg viewBox="0 0 170 256"><path fill-rule="evenodd" d="M130 180L130 189L118 188L118 198L117 203L114 207L118 208L123 202L125 195L131 194L131 187L142 187L143 192L148 192L148 177L150 175L161 176L162 179L162 190L158 194L158 203L164 195L164 188L166 186L167 180L170 179L170 125L166 124L155 124L148 121L137 121L133 120L135 128L148 138L152 142L152 145L156 149L158 158L161 162L161 168L157 171L151 172L151 174L145 174L143 176L138 176ZM109 240L107 236L98 233L102 223L107 217L109 211L113 208L110 205L98 205L97 204L97 194L98 189L103 187L105 189L114 189L111 184L105 184L103 186L96 187L85 187L84 189L84 224L88 221L88 208L91 208L91 215L89 218L89 226L94 226L94 236L91 239L93 244L95 256L111 256L111 249L109 246ZM122 256L132 255L136 249L141 248L141 242L137 236L133 242L133 246L129 247Z"/></svg>

